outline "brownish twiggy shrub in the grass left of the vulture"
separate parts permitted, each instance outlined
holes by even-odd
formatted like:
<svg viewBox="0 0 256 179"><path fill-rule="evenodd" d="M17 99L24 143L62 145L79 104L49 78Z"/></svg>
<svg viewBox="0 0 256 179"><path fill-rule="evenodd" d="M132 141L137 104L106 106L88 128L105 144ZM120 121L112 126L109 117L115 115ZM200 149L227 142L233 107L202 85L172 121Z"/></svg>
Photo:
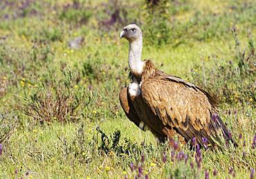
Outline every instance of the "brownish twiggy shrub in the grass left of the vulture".
<svg viewBox="0 0 256 179"><path fill-rule="evenodd" d="M78 88L69 69L62 69L59 81L55 80L55 75L47 74L35 91L24 98L22 109L35 122L66 122L77 117L76 110L86 95L84 88Z"/></svg>

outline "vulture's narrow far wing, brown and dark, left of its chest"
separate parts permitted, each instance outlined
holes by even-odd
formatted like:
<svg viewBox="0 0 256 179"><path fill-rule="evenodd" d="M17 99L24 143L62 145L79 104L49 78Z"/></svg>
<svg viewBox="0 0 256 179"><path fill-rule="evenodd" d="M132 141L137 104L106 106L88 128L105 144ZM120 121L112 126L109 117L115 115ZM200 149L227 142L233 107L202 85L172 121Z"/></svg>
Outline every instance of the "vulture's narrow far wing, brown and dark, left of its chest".
<svg viewBox="0 0 256 179"><path fill-rule="evenodd" d="M128 88L122 88L119 93L119 100L122 109L125 111L125 115L131 122L134 122L136 126L140 127L140 118L138 117L134 106L131 104L131 99L129 97Z"/></svg>

